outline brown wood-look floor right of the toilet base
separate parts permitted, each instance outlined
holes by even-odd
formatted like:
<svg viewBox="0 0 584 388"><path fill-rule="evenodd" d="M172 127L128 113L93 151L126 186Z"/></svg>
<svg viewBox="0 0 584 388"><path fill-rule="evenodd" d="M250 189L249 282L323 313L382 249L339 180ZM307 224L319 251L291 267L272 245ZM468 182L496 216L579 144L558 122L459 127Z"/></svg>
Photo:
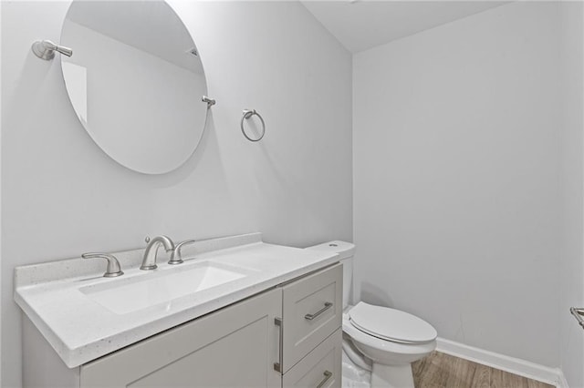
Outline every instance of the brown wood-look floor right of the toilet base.
<svg viewBox="0 0 584 388"><path fill-rule="evenodd" d="M441 352L412 364L416 388L554 388Z"/></svg>

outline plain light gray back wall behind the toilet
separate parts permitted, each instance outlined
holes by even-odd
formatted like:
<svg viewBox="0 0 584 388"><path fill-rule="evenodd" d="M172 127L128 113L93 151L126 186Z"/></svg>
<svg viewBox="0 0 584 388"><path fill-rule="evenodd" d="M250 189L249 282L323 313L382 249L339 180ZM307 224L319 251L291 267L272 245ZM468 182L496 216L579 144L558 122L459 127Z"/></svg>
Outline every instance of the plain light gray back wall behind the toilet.
<svg viewBox="0 0 584 388"><path fill-rule="evenodd" d="M421 316L443 338L552 367L558 8L503 5L353 61L362 299Z"/></svg>

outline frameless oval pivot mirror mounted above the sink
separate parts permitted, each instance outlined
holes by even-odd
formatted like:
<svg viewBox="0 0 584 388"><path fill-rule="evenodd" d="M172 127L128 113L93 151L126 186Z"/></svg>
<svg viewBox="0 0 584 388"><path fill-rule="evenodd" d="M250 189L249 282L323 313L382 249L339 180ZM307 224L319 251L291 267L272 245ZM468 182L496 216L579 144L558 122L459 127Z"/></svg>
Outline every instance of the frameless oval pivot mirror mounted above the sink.
<svg viewBox="0 0 584 388"><path fill-rule="evenodd" d="M89 136L122 166L162 174L191 157L207 86L193 38L163 1L74 1L61 56L71 105Z"/></svg>

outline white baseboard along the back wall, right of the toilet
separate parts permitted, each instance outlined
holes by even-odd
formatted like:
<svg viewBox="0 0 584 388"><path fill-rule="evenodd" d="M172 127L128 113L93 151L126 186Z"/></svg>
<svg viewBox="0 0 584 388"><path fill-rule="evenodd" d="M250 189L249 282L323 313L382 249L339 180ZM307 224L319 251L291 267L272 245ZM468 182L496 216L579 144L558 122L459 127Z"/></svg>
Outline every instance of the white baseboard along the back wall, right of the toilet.
<svg viewBox="0 0 584 388"><path fill-rule="evenodd" d="M559 368L550 368L534 362L528 362L504 354L474 348L464 343L436 339L438 352L454 355L472 362L482 363L509 373L515 373L539 382L555 385L558 388L568 388L566 377Z"/></svg>

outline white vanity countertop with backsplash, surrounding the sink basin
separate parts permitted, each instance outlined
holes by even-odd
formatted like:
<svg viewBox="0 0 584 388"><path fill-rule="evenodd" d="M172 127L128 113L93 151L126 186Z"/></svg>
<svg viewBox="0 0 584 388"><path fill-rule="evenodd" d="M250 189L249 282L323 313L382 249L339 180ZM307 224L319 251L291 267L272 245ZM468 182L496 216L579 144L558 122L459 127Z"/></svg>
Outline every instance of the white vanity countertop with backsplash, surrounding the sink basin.
<svg viewBox="0 0 584 388"><path fill-rule="evenodd" d="M116 254L125 272L120 278L100 276L105 260L89 264L90 260L71 259L16 268L16 303L69 368L339 261L337 254L326 251L266 244L261 234L255 233L184 247L183 268L208 260L249 269L242 279L125 314L112 312L79 291L81 287L177 268L169 266L166 255L159 253L159 269L141 271L141 252ZM92 273L79 273L87 272L88 266Z"/></svg>

